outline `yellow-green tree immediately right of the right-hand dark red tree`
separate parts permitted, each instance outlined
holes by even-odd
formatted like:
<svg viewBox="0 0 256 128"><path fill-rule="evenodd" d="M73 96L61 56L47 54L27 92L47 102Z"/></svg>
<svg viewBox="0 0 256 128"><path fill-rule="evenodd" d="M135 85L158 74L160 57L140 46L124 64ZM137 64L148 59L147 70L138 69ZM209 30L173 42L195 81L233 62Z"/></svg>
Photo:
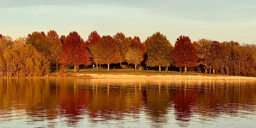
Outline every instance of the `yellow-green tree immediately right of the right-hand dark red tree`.
<svg viewBox="0 0 256 128"><path fill-rule="evenodd" d="M212 54L211 45L212 40L208 39L199 39L198 41L194 41L193 44L195 45L199 57L199 63L204 66L205 74L207 74L207 70L210 69L211 73L211 63L209 58Z"/></svg>

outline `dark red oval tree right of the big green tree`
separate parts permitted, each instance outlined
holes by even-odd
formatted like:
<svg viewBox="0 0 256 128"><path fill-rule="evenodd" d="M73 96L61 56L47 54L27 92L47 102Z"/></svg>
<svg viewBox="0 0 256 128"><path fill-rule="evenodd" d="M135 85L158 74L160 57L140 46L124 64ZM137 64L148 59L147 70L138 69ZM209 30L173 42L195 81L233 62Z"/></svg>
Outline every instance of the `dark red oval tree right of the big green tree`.
<svg viewBox="0 0 256 128"><path fill-rule="evenodd" d="M179 38L177 38L172 51L172 59L177 66L185 67L185 72L187 72L187 66L198 65L197 50L194 44L191 43L189 37L181 35Z"/></svg>

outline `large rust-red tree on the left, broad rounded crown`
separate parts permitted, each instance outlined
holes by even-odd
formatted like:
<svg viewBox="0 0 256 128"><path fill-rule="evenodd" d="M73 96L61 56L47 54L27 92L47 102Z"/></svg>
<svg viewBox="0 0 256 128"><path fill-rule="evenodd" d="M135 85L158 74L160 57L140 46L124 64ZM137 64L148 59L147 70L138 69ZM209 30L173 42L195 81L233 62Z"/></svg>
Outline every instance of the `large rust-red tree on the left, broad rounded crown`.
<svg viewBox="0 0 256 128"><path fill-rule="evenodd" d="M76 72L76 66L90 64L86 43L76 31L70 32L67 36L65 43L62 44L59 58L64 65L74 65L74 72Z"/></svg>

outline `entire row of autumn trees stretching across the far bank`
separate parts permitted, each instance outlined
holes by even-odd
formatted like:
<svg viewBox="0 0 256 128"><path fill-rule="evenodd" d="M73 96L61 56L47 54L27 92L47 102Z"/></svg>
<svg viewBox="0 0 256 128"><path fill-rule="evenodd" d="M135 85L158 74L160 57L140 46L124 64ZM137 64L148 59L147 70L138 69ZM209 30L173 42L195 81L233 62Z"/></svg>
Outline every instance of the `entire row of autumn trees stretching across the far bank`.
<svg viewBox="0 0 256 128"><path fill-rule="evenodd" d="M256 76L256 45L240 45L235 41L218 42L209 39L191 41L180 35L175 45L160 32L144 42L138 36L126 37L124 33L100 36L92 31L84 41L76 31L67 36L50 30L45 34L34 31L25 38L13 40L0 34L0 76L43 76L50 66L122 62L132 63L136 69L141 63L150 67L188 68L205 74Z"/></svg>

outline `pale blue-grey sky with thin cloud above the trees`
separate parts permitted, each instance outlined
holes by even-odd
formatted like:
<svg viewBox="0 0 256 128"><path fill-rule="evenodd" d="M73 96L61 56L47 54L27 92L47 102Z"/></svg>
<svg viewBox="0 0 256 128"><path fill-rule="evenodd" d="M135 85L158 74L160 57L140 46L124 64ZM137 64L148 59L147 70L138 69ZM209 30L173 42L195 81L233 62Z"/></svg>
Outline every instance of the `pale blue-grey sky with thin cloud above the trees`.
<svg viewBox="0 0 256 128"><path fill-rule="evenodd" d="M0 33L13 39L55 30L87 40L97 30L143 42L160 31L173 45L179 35L256 43L256 0L0 0L0 12Z"/></svg>

